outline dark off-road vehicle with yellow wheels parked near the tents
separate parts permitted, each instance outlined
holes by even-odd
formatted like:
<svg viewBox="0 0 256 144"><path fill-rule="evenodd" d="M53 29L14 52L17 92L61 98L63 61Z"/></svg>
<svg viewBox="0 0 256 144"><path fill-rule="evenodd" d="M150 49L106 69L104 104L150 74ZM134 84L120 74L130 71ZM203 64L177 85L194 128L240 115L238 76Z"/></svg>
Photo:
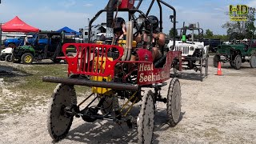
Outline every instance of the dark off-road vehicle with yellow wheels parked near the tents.
<svg viewBox="0 0 256 144"><path fill-rule="evenodd" d="M62 45L73 42L74 39L64 38L61 32L41 32L35 41L37 42L33 42L31 45L14 48L12 61L31 64L32 62L39 62L42 59L51 59L53 62L58 63L62 60L58 57L64 56Z"/></svg>

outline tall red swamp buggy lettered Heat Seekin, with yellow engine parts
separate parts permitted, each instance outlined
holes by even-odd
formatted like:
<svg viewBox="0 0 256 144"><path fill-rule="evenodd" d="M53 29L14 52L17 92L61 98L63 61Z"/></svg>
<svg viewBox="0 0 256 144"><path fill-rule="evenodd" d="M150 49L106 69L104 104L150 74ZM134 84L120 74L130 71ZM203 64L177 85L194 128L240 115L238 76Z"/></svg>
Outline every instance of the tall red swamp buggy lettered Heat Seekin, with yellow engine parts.
<svg viewBox="0 0 256 144"><path fill-rule="evenodd" d="M174 7L162 0L152 0L151 6L154 2L159 6L161 12L160 30L162 30L162 6L173 10L172 22L175 29L176 12ZM127 11L130 15L126 25L127 35L126 40L119 40L120 46L110 45L111 42L108 40L101 42L102 44L90 43L90 37L89 43L66 43L62 46L68 63L69 78L42 78L43 82L59 83L50 100L47 122L48 131L54 141L66 138L75 116L82 117L86 122L106 119L118 124L126 123L129 127L137 124L138 143L151 143L154 134L156 102L166 103L166 119L170 126L178 124L181 116L180 82L178 78L172 78L170 83L166 81L170 79L170 69L174 59L179 60L179 69L181 70L182 52L167 49L162 58L153 62L151 50L136 48L138 61L130 61L133 23L136 26L135 13L141 14L148 21L148 13L144 14L138 10L141 3L142 0L138 2L137 7L134 7L134 1L122 0L120 3L120 1L110 0L106 9L100 10L90 20L89 34L92 23L102 12L107 13L107 26L110 26L107 27L108 29L112 26L111 23L108 25L108 22L114 22L114 11ZM114 6L117 6L117 9ZM77 54L74 57L69 57L66 54L66 50L70 46L76 49ZM164 48L162 48L163 50ZM74 90L75 85L90 86L92 94L78 103ZM169 85L168 93L162 95L161 88L166 85ZM145 88L150 90L144 91ZM92 98L93 95L94 98ZM126 102L120 105L120 99L126 99ZM88 100L90 100L89 104L82 107L82 104ZM95 102L96 106L92 106ZM135 103L140 103L141 109L138 116L134 117L130 114L130 110Z"/></svg>

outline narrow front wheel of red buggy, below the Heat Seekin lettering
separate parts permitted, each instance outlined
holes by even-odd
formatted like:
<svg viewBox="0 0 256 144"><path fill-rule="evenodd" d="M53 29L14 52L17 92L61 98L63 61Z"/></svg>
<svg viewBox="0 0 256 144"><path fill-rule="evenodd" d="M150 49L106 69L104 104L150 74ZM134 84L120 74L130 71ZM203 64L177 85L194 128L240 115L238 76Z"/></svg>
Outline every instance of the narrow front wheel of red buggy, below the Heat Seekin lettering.
<svg viewBox="0 0 256 144"><path fill-rule="evenodd" d="M138 114L138 143L151 143L154 134L154 93L149 90L142 97L142 108Z"/></svg>

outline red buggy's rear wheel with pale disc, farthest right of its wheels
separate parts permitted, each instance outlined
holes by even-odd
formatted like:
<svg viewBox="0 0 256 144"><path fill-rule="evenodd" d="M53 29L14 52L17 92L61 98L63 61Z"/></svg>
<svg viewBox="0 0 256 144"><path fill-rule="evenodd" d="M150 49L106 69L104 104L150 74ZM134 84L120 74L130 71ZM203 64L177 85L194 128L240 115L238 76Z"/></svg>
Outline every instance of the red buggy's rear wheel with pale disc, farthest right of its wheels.
<svg viewBox="0 0 256 144"><path fill-rule="evenodd" d="M167 94L167 116L170 126L176 126L181 115L182 101L181 86L178 78L173 78Z"/></svg>

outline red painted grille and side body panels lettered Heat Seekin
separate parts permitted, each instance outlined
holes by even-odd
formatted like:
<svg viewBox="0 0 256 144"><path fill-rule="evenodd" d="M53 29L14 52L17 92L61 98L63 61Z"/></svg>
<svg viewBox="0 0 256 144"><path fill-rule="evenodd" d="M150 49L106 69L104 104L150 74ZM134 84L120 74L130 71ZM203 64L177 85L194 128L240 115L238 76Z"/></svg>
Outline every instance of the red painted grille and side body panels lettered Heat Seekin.
<svg viewBox="0 0 256 144"><path fill-rule="evenodd" d="M74 57L66 55L66 48L69 46L75 47L77 54ZM119 56L116 59L107 57L107 51L110 49L119 51ZM97 45L91 43L66 43L62 47L65 54L66 62L68 63L68 74L85 74L90 76L102 76L114 78L114 70L117 63L126 63L131 61L120 61L123 55L121 46ZM166 55L166 62L161 68L155 68L153 63L152 52L146 49L138 49L138 61L133 63L138 64L138 85L150 85L161 83L170 78L170 69L174 58L179 61L181 70L182 52L169 51ZM98 58L98 60L97 60Z"/></svg>

